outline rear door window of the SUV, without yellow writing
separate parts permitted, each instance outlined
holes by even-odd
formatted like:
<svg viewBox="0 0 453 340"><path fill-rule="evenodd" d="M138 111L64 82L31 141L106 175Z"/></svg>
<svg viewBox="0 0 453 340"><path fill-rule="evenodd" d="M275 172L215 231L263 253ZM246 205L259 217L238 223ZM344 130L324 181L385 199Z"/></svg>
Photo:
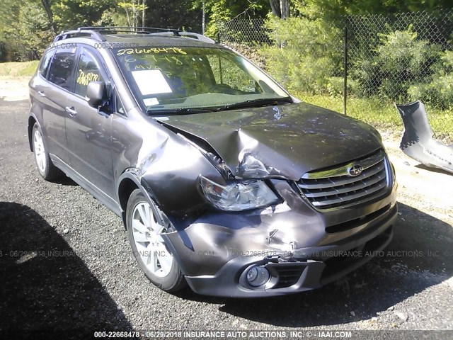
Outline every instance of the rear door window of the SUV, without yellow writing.
<svg viewBox="0 0 453 340"><path fill-rule="evenodd" d="M73 52L55 53L50 65L49 81L70 91L75 59Z"/></svg>

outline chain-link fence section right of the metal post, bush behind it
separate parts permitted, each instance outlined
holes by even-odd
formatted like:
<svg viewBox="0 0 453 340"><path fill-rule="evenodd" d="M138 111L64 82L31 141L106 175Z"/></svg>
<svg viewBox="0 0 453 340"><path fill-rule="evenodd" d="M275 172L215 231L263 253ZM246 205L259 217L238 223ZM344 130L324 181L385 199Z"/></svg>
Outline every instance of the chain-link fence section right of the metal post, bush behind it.
<svg viewBox="0 0 453 340"><path fill-rule="evenodd" d="M453 11L348 16L353 96L453 107Z"/></svg>

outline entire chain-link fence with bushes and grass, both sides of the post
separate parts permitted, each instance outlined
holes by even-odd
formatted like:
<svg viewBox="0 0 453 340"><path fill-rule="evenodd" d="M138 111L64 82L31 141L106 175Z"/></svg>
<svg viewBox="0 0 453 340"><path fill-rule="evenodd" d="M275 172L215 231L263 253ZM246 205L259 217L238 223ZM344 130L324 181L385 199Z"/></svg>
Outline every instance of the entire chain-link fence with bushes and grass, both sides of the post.
<svg viewBox="0 0 453 340"><path fill-rule="evenodd" d="M236 18L218 38L299 98L368 123L399 130L393 103L420 99L435 137L453 142L453 9L300 22Z"/></svg>

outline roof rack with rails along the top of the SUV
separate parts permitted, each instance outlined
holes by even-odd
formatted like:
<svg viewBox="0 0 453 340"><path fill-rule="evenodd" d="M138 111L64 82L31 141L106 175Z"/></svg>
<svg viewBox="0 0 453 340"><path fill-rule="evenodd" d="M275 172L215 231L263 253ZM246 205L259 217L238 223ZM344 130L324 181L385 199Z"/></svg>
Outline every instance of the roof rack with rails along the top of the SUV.
<svg viewBox="0 0 453 340"><path fill-rule="evenodd" d="M102 34L101 34L102 33ZM73 38L74 35L89 35L91 38L98 41L105 41L104 34L108 33L136 33L149 35L173 35L188 38L195 38L203 42L215 43L214 40L207 38L205 35L192 32L184 32L174 28L156 28L156 27L139 27L139 26L101 26L101 27L79 27L76 30L63 30L57 35L54 42Z"/></svg>

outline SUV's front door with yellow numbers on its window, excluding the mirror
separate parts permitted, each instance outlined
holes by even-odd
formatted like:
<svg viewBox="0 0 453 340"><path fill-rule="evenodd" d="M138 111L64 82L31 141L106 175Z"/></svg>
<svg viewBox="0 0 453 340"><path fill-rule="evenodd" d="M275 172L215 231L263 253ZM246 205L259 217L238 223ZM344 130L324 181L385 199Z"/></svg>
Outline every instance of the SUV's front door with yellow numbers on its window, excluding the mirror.
<svg viewBox="0 0 453 340"><path fill-rule="evenodd" d="M108 107L98 110L89 106L85 98L91 81L103 81L110 89L110 79L101 60L96 50L80 47L66 133L71 168L88 181L87 184L98 195L113 198L113 115Z"/></svg>

